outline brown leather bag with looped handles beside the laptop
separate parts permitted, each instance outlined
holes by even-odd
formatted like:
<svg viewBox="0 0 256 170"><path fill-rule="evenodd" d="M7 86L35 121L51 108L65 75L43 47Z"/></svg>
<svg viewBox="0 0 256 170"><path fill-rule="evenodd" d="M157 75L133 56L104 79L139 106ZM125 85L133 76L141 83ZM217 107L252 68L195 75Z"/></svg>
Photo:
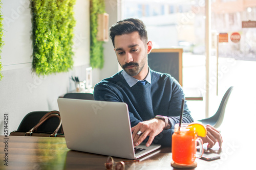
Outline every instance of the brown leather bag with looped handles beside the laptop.
<svg viewBox="0 0 256 170"><path fill-rule="evenodd" d="M47 119L51 117L58 117L59 118L59 125L53 133L47 132L37 132L37 128L42 125ZM57 134L59 128L61 127L61 118L59 115L59 111L51 111L46 113L42 118L39 120L37 125L35 125L30 131L22 132L22 131L13 131L10 133L10 136L41 136L41 137L65 137L63 133L63 129L61 129L61 133Z"/></svg>

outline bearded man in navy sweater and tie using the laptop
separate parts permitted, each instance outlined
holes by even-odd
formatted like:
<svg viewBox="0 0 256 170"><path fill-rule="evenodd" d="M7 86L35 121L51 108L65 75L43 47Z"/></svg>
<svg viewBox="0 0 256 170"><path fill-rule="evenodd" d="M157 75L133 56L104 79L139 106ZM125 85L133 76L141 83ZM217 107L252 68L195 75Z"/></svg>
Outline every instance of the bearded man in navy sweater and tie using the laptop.
<svg viewBox="0 0 256 170"><path fill-rule="evenodd" d="M172 145L174 125L180 121L185 98L182 87L170 75L148 67L147 55L152 50L152 42L147 40L141 20L128 18L117 22L110 28L110 38L123 70L98 83L94 99L128 105L135 146L144 140L146 146L152 142ZM193 121L185 103L182 123ZM207 126L207 130L203 141L208 142L208 148L217 141L221 147L220 133L211 126Z"/></svg>

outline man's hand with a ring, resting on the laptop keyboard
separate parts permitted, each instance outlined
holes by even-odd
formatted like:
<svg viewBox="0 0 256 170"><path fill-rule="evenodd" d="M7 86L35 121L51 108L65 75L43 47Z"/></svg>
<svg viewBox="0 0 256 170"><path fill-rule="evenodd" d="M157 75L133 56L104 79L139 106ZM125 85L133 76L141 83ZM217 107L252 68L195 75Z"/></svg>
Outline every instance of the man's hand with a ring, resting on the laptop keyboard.
<svg viewBox="0 0 256 170"><path fill-rule="evenodd" d="M146 146L149 147L155 136L163 131L164 126L165 122L162 119L153 118L132 127L134 146L138 146L147 136L150 136L146 142ZM142 132L140 136L137 135L138 131Z"/></svg>

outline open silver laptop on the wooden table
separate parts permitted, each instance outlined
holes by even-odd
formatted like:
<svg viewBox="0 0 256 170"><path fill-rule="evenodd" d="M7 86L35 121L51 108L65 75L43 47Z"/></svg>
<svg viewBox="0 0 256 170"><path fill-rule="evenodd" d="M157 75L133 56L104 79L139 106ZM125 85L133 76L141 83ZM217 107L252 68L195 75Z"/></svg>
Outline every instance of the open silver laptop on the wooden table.
<svg viewBox="0 0 256 170"><path fill-rule="evenodd" d="M128 107L121 102L58 98L67 147L71 150L137 159L161 147L134 148Z"/></svg>

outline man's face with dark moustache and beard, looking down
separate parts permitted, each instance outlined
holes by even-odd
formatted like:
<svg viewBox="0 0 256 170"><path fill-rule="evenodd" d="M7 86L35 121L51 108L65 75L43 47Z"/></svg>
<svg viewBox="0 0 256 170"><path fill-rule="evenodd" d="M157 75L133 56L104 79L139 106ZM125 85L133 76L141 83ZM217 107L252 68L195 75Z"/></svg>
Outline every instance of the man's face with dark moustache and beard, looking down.
<svg viewBox="0 0 256 170"><path fill-rule="evenodd" d="M147 44L138 32L115 36L115 53L120 66L130 76L136 76L141 70L147 74Z"/></svg>

